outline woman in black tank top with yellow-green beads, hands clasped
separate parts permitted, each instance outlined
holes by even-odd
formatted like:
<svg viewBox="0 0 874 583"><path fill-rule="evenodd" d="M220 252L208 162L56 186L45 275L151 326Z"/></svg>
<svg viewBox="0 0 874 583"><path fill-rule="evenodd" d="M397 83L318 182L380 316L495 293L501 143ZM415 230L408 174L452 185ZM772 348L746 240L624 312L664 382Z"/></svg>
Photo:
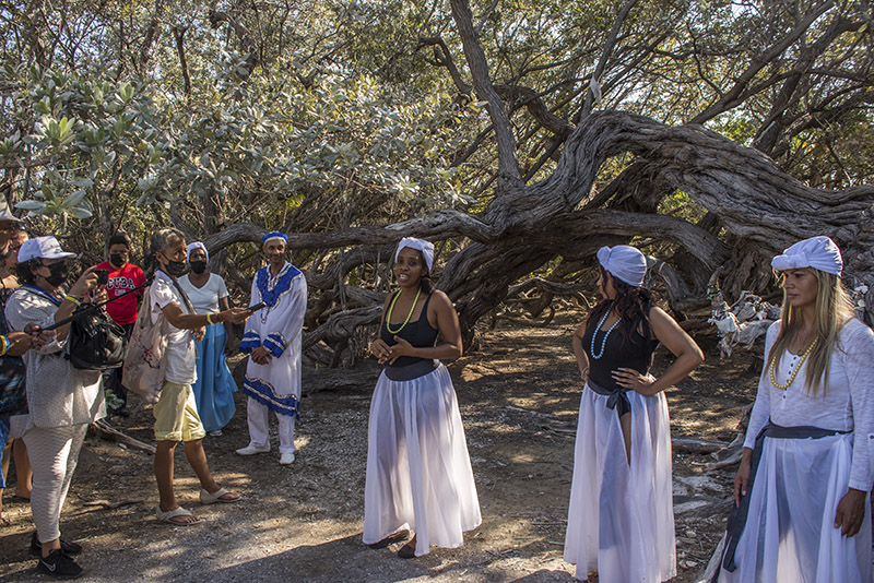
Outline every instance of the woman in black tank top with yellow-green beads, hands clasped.
<svg viewBox="0 0 874 583"><path fill-rule="evenodd" d="M386 299L370 346L386 368L370 402L363 538L382 548L413 530L398 552L412 558L460 547L481 515L456 390L437 360L461 356L458 314L430 286L434 245L406 237L394 261L401 289Z"/></svg>

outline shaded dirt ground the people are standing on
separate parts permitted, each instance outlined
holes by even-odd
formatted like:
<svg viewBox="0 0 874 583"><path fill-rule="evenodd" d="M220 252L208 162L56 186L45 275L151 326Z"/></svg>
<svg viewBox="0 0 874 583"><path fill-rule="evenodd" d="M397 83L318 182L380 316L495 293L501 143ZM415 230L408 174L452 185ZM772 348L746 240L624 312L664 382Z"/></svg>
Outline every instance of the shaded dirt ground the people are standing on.
<svg viewBox="0 0 874 583"><path fill-rule="evenodd" d="M579 385L570 353L578 316L548 328L498 326L483 350L450 366L480 493L483 524L460 549L437 549L401 560L398 546L370 550L361 543L367 450L367 413L376 380L355 390L317 393L303 401L297 461L286 468L279 453L243 459L245 404L222 437L208 438L217 479L240 491L238 504L200 507L197 480L177 450L180 503L208 522L172 527L154 519L157 492L149 454L87 438L62 515L64 536L85 546L83 581L312 581L393 582L574 581L562 560L572 471ZM712 346L706 362L668 393L675 436L731 440L742 408L754 395L756 373L739 355L720 366ZM663 349L657 371L665 366ZM304 377L307 382L307 376ZM151 442L151 411L114 425ZM275 423L274 423L275 425ZM689 497L725 497L731 472L702 475L706 455L674 455L678 576L693 581L724 527L724 515L682 513ZM7 489L0 526L0 578L40 579L27 555L29 507ZM113 510L86 501L141 498ZM686 504L685 507L683 504Z"/></svg>

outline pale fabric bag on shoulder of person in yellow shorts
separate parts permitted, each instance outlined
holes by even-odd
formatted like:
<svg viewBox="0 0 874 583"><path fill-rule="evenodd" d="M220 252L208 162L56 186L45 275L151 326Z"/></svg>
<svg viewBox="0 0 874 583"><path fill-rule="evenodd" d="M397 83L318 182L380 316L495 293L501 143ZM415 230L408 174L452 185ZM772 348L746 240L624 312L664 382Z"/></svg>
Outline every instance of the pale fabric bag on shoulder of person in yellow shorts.
<svg viewBox="0 0 874 583"><path fill-rule="evenodd" d="M146 289L128 342L121 384L139 393L147 403L157 403L164 384L168 325L163 313L157 317L156 323L152 323L152 294L151 289Z"/></svg>

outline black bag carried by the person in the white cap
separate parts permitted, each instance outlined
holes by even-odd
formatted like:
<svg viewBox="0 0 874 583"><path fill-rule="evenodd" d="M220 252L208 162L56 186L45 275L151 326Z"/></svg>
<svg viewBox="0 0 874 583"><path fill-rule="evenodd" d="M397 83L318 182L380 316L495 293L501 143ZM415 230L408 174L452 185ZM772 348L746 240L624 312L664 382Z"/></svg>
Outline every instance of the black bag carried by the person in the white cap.
<svg viewBox="0 0 874 583"><path fill-rule="evenodd" d="M125 349L128 345L125 329L115 323L103 308L94 310L86 304L78 308L76 312L82 310L91 313L70 322L67 353L63 357L73 368L80 370L110 370L120 367L125 362Z"/></svg>

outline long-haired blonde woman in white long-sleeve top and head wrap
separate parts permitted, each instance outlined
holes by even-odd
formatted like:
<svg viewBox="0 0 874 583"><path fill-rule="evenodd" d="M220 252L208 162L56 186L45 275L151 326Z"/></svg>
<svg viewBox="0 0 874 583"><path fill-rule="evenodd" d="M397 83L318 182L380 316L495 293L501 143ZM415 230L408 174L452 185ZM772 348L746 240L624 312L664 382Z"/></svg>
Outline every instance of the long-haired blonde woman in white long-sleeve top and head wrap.
<svg viewBox="0 0 874 583"><path fill-rule="evenodd" d="M716 581L870 583L874 332L853 316L828 237L771 266L782 314L768 329Z"/></svg>

